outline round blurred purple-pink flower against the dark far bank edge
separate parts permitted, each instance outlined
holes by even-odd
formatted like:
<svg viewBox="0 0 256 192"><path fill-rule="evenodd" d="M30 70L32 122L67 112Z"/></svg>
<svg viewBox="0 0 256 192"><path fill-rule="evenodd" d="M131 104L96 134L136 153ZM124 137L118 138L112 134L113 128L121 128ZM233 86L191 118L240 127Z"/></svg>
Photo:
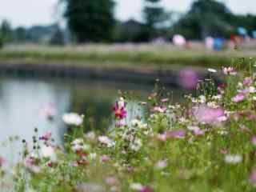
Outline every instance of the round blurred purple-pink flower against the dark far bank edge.
<svg viewBox="0 0 256 192"><path fill-rule="evenodd" d="M198 84L198 73L192 69L185 69L179 73L179 83L186 90L192 90Z"/></svg>

